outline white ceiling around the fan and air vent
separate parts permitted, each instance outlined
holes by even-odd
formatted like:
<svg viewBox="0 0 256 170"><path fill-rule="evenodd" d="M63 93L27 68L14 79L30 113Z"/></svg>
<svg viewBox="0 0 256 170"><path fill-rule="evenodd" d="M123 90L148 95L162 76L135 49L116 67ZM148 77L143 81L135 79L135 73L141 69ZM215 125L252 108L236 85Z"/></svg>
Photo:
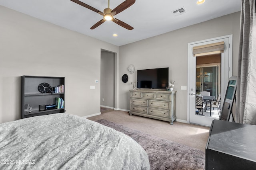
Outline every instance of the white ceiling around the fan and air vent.
<svg viewBox="0 0 256 170"><path fill-rule="evenodd" d="M108 7L108 0L80 1L102 12ZM110 0L110 8L116 8L123 1ZM103 17L70 0L0 0L0 5L118 46L238 12L241 8L241 0L205 0L201 5L196 1L136 0L114 16L134 27L132 30L112 21L91 30ZM185 13L174 16L172 12L182 7ZM118 36L113 37L114 33Z"/></svg>

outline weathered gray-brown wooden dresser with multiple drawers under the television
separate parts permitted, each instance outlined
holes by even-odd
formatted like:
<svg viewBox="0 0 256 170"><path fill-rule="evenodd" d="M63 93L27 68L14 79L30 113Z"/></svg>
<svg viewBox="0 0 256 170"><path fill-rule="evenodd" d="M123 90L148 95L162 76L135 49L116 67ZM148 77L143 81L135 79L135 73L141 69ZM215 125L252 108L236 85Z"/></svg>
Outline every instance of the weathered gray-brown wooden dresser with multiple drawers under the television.
<svg viewBox="0 0 256 170"><path fill-rule="evenodd" d="M176 121L176 91L130 90L130 116L139 115L153 119Z"/></svg>

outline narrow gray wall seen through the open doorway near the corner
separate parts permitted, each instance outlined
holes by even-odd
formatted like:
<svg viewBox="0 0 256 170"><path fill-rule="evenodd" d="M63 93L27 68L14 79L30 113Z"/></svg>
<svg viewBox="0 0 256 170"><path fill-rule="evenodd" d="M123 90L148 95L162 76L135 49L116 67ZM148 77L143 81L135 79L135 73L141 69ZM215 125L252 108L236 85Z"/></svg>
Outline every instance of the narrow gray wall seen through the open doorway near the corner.
<svg viewBox="0 0 256 170"><path fill-rule="evenodd" d="M115 90L115 55L108 51L101 52L100 65L100 105L114 108ZM104 98L104 101L102 101Z"/></svg>

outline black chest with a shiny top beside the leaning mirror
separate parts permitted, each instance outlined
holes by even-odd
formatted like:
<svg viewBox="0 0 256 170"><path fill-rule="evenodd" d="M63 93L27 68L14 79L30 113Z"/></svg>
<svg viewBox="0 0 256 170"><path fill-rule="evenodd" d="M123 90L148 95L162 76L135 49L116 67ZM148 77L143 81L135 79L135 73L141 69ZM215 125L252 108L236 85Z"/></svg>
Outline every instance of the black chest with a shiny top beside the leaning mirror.
<svg viewBox="0 0 256 170"><path fill-rule="evenodd" d="M254 170L256 125L214 120L206 144L206 170Z"/></svg>

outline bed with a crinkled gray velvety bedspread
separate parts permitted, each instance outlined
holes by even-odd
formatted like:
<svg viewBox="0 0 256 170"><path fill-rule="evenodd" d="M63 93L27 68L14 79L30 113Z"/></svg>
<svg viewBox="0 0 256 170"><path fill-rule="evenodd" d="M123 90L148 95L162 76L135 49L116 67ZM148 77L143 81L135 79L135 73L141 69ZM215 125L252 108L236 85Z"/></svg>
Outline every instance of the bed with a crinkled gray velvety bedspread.
<svg viewBox="0 0 256 170"><path fill-rule="evenodd" d="M56 113L0 124L0 169L149 170L132 138L84 117Z"/></svg>

